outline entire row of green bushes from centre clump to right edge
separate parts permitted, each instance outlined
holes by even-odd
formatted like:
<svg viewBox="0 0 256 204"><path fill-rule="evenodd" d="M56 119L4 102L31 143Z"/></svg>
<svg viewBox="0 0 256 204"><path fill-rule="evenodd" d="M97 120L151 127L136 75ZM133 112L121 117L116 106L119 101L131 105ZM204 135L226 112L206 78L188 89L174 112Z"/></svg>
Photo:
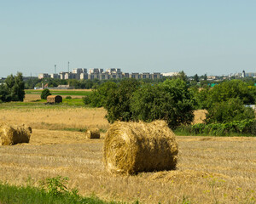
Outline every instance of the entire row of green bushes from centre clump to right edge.
<svg viewBox="0 0 256 204"><path fill-rule="evenodd" d="M206 109L207 125L253 120L248 124L256 128L255 112L248 106L256 100L256 87L251 85L235 79L198 88L190 86L183 75L158 83L125 79L103 83L84 98L84 104L104 107L108 122L162 119L177 128L193 121L193 111Z"/></svg>

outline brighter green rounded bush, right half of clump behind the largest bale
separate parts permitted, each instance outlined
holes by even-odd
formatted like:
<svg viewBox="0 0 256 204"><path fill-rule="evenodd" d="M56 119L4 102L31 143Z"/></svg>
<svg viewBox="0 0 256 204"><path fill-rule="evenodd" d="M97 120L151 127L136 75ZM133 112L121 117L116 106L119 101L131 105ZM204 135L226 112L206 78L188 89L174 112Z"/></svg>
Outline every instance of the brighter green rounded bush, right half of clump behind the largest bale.
<svg viewBox="0 0 256 204"><path fill-rule="evenodd" d="M194 101L182 79L166 80L159 85L145 84L131 99L132 119L152 122L162 119L169 127L189 124L194 118Z"/></svg>

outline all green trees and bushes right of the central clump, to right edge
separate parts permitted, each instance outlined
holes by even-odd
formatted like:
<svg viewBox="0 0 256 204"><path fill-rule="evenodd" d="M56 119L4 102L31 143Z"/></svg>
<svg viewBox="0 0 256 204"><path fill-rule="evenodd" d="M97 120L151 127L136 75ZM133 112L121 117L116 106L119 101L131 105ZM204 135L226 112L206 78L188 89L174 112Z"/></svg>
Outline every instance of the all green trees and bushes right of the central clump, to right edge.
<svg viewBox="0 0 256 204"><path fill-rule="evenodd" d="M221 82L213 88L191 88L197 108L207 109L207 124L253 119L256 87L241 80Z"/></svg>

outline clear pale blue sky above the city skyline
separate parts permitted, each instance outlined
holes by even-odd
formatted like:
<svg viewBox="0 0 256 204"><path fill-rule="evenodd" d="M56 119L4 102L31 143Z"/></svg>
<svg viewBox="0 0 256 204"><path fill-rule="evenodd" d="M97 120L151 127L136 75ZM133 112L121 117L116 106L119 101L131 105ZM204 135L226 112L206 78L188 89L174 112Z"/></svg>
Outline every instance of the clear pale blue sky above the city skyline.
<svg viewBox="0 0 256 204"><path fill-rule="evenodd" d="M0 77L256 72L255 0L0 0Z"/></svg>

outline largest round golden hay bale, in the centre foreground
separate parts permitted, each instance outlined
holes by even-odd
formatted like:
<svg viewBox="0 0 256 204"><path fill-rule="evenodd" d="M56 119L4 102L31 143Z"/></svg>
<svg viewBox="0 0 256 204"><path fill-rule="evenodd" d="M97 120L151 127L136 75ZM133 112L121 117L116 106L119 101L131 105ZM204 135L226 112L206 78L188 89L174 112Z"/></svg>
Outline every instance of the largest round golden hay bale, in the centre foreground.
<svg viewBox="0 0 256 204"><path fill-rule="evenodd" d="M105 136L103 160L109 172L134 174L173 170L177 153L166 122L115 122Z"/></svg>

